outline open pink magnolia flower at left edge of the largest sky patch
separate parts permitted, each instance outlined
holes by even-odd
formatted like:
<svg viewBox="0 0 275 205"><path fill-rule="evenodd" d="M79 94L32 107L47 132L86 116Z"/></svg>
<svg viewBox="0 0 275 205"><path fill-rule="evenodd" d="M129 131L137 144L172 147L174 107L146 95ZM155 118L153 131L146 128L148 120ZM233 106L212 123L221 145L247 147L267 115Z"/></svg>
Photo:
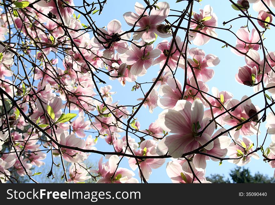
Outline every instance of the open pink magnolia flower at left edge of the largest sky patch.
<svg viewBox="0 0 275 205"><path fill-rule="evenodd" d="M203 82L210 81L214 76L213 69L207 69L207 67L214 67L220 63L220 60L217 56L213 54L208 54L205 56L205 52L199 48L191 48L189 51L191 59L188 58L188 62L194 68L194 73L197 80L202 80ZM188 66L187 75L192 75L192 70Z"/></svg>

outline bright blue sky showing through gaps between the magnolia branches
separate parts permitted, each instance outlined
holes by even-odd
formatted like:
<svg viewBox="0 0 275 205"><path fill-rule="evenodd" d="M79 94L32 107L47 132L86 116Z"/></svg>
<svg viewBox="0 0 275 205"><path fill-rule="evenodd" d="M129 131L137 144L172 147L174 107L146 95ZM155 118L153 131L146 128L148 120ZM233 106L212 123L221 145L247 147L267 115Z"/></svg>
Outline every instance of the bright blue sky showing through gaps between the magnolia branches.
<svg viewBox="0 0 275 205"><path fill-rule="evenodd" d="M92 16L93 20L96 22L96 25L98 27L104 27L104 26L107 26L108 22L110 22L111 20L118 19L122 23L123 31L128 30L130 29L130 27L126 24L123 18L123 14L128 11L134 12L135 2L136 0L107 1L107 4L104 5L102 14L100 16L98 16L97 14L93 15ZM143 1L139 1L139 2L145 5ZM179 9L179 10L183 9L187 4L187 2L185 1L176 4L175 3L176 0L167 1L167 2L170 4L170 8ZM77 5L78 3L75 1L75 4ZM210 4L213 7L214 13L216 13L218 17L219 27L229 28L230 25L223 26L222 22L228 21L234 17L237 17L238 14L240 13L232 9L231 3L229 1L203 0L201 4L202 5L199 5L198 2L194 2L193 10L195 12L199 12L199 8L203 8L205 5ZM249 12L253 16L257 17L257 13L253 11L252 6L249 9ZM85 22L84 18L80 18L80 19L84 24L87 25L87 22ZM236 20L231 22L231 24L232 24L231 30L233 32L236 32L241 26L244 26L246 24L246 20L245 19ZM224 32L222 30L216 30L216 32L219 38L222 38L223 40L229 42L230 44L235 45L236 37L233 34L229 32ZM183 39L185 36L185 33L183 31L179 31L178 35ZM270 49L269 51L272 51L272 45L273 45L273 41L271 38L272 36L274 36L274 32L272 31L272 29L268 30L265 33L265 37L267 39L265 39L264 42L267 48ZM163 40L162 38L158 37L154 45L156 46L162 40ZM168 38L168 41L169 40L170 38ZM206 54L214 54L218 56L219 59L221 60L220 64L213 68L215 71L215 76L211 81L207 82L207 85L209 86L210 92L211 92L211 88L214 86L214 87L217 87L220 91L226 90L231 92L234 95L234 99L241 100L243 95L249 96L254 93L252 87L240 85L235 81L235 74L238 71L238 67L245 65L244 57L239 57L233 54L230 51L229 47L221 48L223 45L224 45L223 43L212 39L206 45L199 46L199 48L203 49ZM189 48L192 48L192 47L196 47L196 46L189 45ZM261 55L261 50L259 50L259 53ZM137 81L139 83L146 82L146 81L150 82L152 78L158 75L158 70L159 70L158 65L150 67L147 71L147 74L143 77L138 77ZM179 69L177 71L176 77L183 84L184 74L182 69ZM107 80L107 85L113 86L112 91L117 91L117 94L112 96L113 102L119 101L120 105L125 105L125 104L135 105L138 102L137 99L140 97L143 97L141 90L131 91L135 83L127 82L126 86L122 87L118 81L109 81L107 78L105 79ZM149 89L149 85L150 84L148 84L148 86L143 87L143 90L145 92ZM262 95L260 95L259 97L252 98L252 103L254 105L259 105L260 108L263 108L264 101L263 101ZM156 108L154 109L153 114L150 114L148 108L145 109L144 107L142 107L139 113L136 115L136 117L138 117L138 120L141 123L140 129L147 129L149 124L154 122L158 118L158 114L160 112L162 112L162 109ZM261 125L261 131L262 131L262 134L259 135L260 143L262 142L264 135L266 133L265 123ZM121 134L121 136L123 136L123 134ZM256 142L255 136L252 136L250 138L254 143ZM151 138L148 138L148 139L151 139ZM267 143L265 147L267 147L269 143L270 143L270 136L267 137ZM98 150L101 150L101 151L113 151L112 147L109 146L104 139L98 139L98 144L96 145L96 147ZM258 153L258 154L261 155L261 153ZM89 160L91 160L92 162L96 162L98 161L98 159L100 159L100 157L101 155L91 154L89 157ZM166 163L169 160L170 159L167 159ZM160 183L160 182L171 183L170 178L166 174L166 169L165 169L166 163L163 164L161 168L153 170L153 173L150 176L150 179L148 181L149 183ZM227 161L223 161L221 166L218 166L218 164L219 162L207 161L206 176L209 176L210 174L214 174L214 173L220 173L228 177L230 169L236 167L236 165L228 163ZM129 168L128 160L123 159L122 163L120 164L120 167ZM268 174L270 177L273 176L273 172L274 172L274 169L270 168L269 164L266 164L262 161L262 157L259 160L252 159L251 162L245 167L249 168L253 174L259 171L260 173ZM39 168L37 169L39 170ZM136 170L135 173L136 173L135 177L139 178L138 170Z"/></svg>

